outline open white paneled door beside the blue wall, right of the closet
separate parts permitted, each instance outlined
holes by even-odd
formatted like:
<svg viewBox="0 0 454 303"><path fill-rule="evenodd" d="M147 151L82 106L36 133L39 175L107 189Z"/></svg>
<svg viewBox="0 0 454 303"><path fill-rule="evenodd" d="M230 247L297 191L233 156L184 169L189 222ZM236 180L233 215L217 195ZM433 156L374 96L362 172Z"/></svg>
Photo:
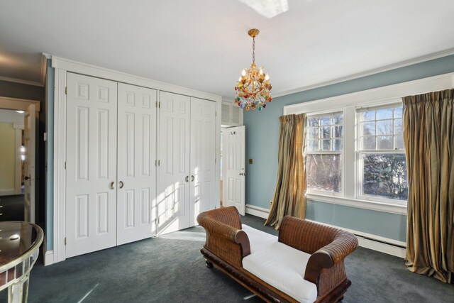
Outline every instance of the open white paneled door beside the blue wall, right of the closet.
<svg viewBox="0 0 454 303"><path fill-rule="evenodd" d="M226 206L236 206L245 214L245 126L225 128L223 155L225 155L226 177L224 177L224 201Z"/></svg>

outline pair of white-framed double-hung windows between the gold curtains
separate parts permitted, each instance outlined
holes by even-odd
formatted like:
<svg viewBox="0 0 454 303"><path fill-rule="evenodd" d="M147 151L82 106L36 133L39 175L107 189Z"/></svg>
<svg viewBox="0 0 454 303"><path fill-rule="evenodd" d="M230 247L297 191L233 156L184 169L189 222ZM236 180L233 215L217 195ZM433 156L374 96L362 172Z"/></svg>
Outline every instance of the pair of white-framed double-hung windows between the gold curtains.
<svg viewBox="0 0 454 303"><path fill-rule="evenodd" d="M405 205L408 185L402 133L399 101L308 113L308 194Z"/></svg>

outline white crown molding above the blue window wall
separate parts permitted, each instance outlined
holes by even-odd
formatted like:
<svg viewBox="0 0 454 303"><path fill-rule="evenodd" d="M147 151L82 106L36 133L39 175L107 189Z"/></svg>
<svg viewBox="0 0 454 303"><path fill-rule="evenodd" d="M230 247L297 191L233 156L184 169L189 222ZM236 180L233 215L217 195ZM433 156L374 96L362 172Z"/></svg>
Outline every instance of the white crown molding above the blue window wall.
<svg viewBox="0 0 454 303"><path fill-rule="evenodd" d="M350 76L346 76L346 77L341 77L341 78L338 78L338 79L333 79L331 81L321 82L319 84L308 85L306 87L296 87L294 89L287 89L287 90L285 90L283 92L277 92L275 94L272 94L272 97L273 98L277 98L277 97L286 96L288 94L294 94L294 93L297 93L297 92L304 92L304 91L309 90L309 89L316 89L316 88L319 88L319 87L326 87L326 86L331 85L331 84L341 83L341 82L345 82L345 81L349 81L349 80L353 80L353 79L358 79L358 78L361 78L361 77L367 77L367 76L370 76L370 75L378 74L380 72L387 72L389 70L395 70L395 69L400 68L400 67L406 67L406 66L409 66L409 65L414 65L414 64L417 64L417 63L426 62L426 61L438 59L438 58L441 58L441 57L446 57L446 56L449 56L449 55L454 55L454 48L450 48L449 50L443 50L442 52L438 52L438 53L433 53L431 55L425 55L425 56L417 57L415 59L406 60L406 61L399 62L399 63L396 63L396 64L387 65L385 67L380 67L380 68L377 68L377 69L374 69L374 70L369 70L367 72L360 72L358 74L354 74L354 75L350 75Z"/></svg>

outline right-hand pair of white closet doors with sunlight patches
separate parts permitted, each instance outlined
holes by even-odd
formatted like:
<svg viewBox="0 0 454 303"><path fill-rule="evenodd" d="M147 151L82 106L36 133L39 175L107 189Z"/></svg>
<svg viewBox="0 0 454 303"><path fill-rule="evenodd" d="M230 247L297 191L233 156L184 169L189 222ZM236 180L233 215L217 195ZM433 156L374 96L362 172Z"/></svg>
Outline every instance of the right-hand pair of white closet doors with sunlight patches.
<svg viewBox="0 0 454 303"><path fill-rule="evenodd" d="M196 225L214 207L216 103L160 92L158 232Z"/></svg>

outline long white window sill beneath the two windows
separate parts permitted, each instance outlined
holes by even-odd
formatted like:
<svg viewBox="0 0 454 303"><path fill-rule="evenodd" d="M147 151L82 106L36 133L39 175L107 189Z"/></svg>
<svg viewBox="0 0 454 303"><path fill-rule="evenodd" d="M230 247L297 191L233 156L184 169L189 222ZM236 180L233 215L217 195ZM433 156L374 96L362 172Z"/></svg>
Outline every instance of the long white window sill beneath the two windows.
<svg viewBox="0 0 454 303"><path fill-rule="evenodd" d="M400 214L406 216L406 206L399 204L390 204L383 202L372 202L360 199L350 199L345 197L328 196L326 194L306 194L306 199L316 202L339 204L343 206L357 207L360 209L369 209L372 211L383 211L391 214Z"/></svg>

